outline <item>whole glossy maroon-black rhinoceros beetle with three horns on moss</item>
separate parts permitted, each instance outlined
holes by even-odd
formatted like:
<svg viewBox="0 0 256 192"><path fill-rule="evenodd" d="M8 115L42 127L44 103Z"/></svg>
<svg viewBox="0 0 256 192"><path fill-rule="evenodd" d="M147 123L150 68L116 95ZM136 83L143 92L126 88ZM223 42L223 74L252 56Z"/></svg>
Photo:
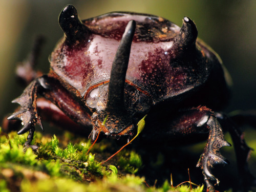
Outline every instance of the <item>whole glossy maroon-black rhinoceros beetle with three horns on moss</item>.
<svg viewBox="0 0 256 192"><path fill-rule="evenodd" d="M197 164L207 190L214 191L219 183L211 168L227 164L219 152L230 146L223 130L234 142L242 183L255 182L247 165L251 149L236 118L220 112L230 95L228 72L197 38L193 20L185 16L181 28L162 17L130 12L80 20L75 7L68 5L59 25L65 36L50 56L50 72L31 80L13 100L20 104L19 111L8 117L22 120L18 134L29 132L26 146L35 125L42 127L41 117L63 126L79 124L71 131L92 130L93 142L98 134L130 140L137 122L147 115L140 134L143 143L193 143L208 136Z"/></svg>

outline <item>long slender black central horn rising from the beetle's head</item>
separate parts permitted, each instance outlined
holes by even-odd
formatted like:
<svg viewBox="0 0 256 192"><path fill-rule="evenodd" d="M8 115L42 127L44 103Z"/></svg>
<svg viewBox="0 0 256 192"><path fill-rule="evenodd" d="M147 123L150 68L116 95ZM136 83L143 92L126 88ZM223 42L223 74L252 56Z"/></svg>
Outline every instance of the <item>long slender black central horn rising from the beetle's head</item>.
<svg viewBox="0 0 256 192"><path fill-rule="evenodd" d="M117 49L109 82L109 94L106 108L119 112L124 109L124 83L129 63L131 45L135 33L136 22L130 20L127 24Z"/></svg>

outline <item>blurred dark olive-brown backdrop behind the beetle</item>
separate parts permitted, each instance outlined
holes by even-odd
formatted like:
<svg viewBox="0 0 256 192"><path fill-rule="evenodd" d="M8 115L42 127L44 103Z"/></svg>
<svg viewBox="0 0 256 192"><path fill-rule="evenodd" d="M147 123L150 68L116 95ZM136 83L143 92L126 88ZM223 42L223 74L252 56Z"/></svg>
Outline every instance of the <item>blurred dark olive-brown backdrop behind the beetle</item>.
<svg viewBox="0 0 256 192"><path fill-rule="evenodd" d="M48 72L48 56L63 35L58 15L67 4L75 5L81 19L133 11L162 16L181 26L182 18L189 16L197 25L198 36L220 55L233 79L233 96L226 112L256 109L256 1L4 0L0 2L0 119L17 106L11 100L24 88L15 82L15 66L26 58L38 34L47 39L38 68ZM254 148L255 133L249 130L245 135ZM253 157L255 161L255 152Z"/></svg>

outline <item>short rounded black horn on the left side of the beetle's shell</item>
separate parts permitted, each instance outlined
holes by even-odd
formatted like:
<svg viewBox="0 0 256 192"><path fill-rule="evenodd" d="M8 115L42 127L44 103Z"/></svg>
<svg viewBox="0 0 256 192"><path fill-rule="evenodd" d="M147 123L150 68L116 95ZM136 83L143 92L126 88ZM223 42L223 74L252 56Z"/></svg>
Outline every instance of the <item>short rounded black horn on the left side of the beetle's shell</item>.
<svg viewBox="0 0 256 192"><path fill-rule="evenodd" d="M70 42L83 40L89 29L81 23L76 8L67 5L59 14L59 25Z"/></svg>

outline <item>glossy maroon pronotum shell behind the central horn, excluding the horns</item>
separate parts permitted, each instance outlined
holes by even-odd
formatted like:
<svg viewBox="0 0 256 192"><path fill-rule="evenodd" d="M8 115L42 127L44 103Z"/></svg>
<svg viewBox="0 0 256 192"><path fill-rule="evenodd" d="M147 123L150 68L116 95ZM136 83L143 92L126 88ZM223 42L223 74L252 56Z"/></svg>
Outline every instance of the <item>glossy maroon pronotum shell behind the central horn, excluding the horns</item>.
<svg viewBox="0 0 256 192"><path fill-rule="evenodd" d="M87 97L99 84L108 83L120 39L132 19L137 27L126 73L127 83L157 103L194 89L207 79L212 62L206 56L214 54L200 46L200 42L197 42L199 50L196 53L202 55L200 61L186 60L186 55L177 57L177 49L172 47L180 27L162 17L122 12L82 20L90 34L72 46L62 39L51 56L54 73L64 84L78 90L81 97ZM184 59L185 64L181 65Z"/></svg>

